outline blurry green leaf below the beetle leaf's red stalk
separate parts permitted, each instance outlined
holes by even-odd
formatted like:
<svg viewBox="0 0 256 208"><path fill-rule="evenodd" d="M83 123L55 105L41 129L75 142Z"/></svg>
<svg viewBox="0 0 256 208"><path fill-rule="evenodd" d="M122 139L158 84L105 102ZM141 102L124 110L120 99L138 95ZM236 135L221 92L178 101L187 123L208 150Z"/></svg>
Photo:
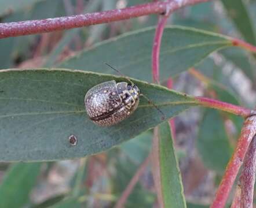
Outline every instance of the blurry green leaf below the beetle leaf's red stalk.
<svg viewBox="0 0 256 208"><path fill-rule="evenodd" d="M232 147L226 135L224 121L217 110L207 109L204 112L197 147L204 165L219 173L224 172L232 155Z"/></svg>

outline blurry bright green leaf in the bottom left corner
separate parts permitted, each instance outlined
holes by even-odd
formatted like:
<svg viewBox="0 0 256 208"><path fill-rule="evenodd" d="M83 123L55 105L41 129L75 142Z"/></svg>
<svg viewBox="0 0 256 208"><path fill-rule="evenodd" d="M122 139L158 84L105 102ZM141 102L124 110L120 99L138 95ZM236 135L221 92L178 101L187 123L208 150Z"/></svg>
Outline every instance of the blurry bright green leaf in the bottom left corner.
<svg viewBox="0 0 256 208"><path fill-rule="evenodd" d="M20 208L28 202L40 167L41 163L19 163L6 172L0 185L1 208Z"/></svg>

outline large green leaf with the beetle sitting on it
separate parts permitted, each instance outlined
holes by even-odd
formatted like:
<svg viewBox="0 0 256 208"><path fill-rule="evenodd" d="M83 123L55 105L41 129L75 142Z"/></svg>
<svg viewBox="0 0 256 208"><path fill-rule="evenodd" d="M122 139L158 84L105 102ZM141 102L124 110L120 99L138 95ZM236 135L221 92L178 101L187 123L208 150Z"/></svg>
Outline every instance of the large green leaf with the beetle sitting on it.
<svg viewBox="0 0 256 208"><path fill-rule="evenodd" d="M115 79L110 75L64 69L0 71L0 161L72 159L107 150L163 122L143 97L136 112L118 125L99 127L86 115L84 96ZM165 87L134 80L167 118L197 101ZM68 137L75 135L76 146Z"/></svg>

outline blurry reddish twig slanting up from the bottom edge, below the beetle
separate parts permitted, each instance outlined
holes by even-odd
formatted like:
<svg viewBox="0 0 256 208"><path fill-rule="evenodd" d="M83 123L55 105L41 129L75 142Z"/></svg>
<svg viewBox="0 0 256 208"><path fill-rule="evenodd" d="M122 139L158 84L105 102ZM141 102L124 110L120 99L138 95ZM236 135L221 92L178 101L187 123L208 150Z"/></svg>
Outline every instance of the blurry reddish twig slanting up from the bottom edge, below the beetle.
<svg viewBox="0 0 256 208"><path fill-rule="evenodd" d="M138 180L140 179L140 176L145 172L145 169L147 168L149 161L150 161L150 155L145 159L144 162L140 165L137 172L134 174L133 178L130 180L129 184L127 185L125 191L123 191L122 196L119 198L118 202L115 205L115 208L122 208L125 205L125 202L128 198L128 196L131 194L131 191L133 191L133 188L138 183Z"/></svg>

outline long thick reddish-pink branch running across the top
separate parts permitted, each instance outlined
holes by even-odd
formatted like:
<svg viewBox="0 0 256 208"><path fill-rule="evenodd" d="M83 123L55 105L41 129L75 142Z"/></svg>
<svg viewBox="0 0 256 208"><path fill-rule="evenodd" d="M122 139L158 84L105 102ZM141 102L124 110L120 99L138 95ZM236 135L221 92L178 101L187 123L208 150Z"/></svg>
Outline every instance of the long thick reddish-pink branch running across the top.
<svg viewBox="0 0 256 208"><path fill-rule="evenodd" d="M112 21L126 20L129 18L145 16L148 14L160 14L173 12L184 6L210 0L169 0L145 3L131 6L125 9L114 9L103 12L79 14L68 17L47 18L44 20L28 20L13 23L0 24L0 38L8 38L21 35L41 34L63 29L79 28L94 24L110 23Z"/></svg>

